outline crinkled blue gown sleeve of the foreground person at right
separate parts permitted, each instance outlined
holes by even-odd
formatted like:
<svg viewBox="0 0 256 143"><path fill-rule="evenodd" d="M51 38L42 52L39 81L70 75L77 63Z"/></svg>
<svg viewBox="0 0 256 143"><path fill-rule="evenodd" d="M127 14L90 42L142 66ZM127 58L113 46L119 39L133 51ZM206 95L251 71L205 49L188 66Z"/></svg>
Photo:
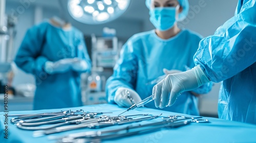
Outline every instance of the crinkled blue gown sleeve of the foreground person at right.
<svg viewBox="0 0 256 143"><path fill-rule="evenodd" d="M226 21L214 35L201 40L194 56L206 76L220 82L237 75L256 61L256 5L247 1L240 13Z"/></svg>

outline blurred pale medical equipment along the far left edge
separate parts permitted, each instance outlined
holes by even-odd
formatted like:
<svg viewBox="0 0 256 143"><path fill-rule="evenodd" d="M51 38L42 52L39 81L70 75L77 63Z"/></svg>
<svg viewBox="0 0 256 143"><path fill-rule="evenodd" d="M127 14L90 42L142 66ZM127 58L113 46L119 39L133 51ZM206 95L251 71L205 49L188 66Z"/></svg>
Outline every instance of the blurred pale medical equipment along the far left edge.
<svg viewBox="0 0 256 143"><path fill-rule="evenodd" d="M0 93L4 93L4 85L8 85L9 94L15 93L12 87L14 73L11 69L11 62L14 56L13 40L15 38L16 16L5 14L6 1L0 1Z"/></svg>

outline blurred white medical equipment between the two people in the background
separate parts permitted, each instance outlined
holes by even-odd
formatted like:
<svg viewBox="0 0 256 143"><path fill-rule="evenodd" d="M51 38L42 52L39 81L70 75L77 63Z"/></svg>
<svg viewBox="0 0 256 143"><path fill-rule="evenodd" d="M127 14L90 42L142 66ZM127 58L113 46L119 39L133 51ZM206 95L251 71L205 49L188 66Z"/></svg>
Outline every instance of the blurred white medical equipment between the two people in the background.
<svg viewBox="0 0 256 143"><path fill-rule="evenodd" d="M103 28L102 37L91 35L91 75L84 76L82 99L85 105L106 103L105 81L113 74L122 42L118 42L115 29Z"/></svg>

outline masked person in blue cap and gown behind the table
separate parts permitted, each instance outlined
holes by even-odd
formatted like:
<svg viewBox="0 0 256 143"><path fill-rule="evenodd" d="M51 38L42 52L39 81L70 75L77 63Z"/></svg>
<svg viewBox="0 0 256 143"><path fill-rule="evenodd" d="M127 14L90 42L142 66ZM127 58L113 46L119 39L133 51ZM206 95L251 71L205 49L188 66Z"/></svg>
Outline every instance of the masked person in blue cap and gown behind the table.
<svg viewBox="0 0 256 143"><path fill-rule="evenodd" d="M177 21L183 20L188 13L188 1L147 0L146 6L156 29L135 34L123 45L114 74L106 82L108 102L120 107L130 107L133 102L151 96L156 84L153 81L164 74L179 73L195 66L193 56L201 36L177 26ZM195 95L210 89L211 83L208 83L184 92L174 106L164 110L199 115ZM127 98L127 91L133 100ZM145 106L155 108L154 102Z"/></svg>

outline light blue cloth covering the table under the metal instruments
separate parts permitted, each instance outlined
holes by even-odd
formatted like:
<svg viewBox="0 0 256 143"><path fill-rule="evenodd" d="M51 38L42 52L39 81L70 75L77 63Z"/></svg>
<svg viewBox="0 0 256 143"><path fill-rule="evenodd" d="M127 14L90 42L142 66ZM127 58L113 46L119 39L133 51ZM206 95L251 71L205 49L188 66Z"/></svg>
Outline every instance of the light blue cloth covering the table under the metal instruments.
<svg viewBox="0 0 256 143"><path fill-rule="evenodd" d="M138 124L148 124L162 121L161 117L154 120L138 122L134 124L126 124L121 126L106 127L101 129L79 129L73 131L66 131L62 133L55 133L41 137L33 137L33 131L20 130L10 123L12 117L8 117L8 125L4 125L5 116L11 114L32 114L32 113L46 113L46 112L58 112L60 110L79 110L89 112L113 112L112 114L104 114L115 116L123 112L126 108L118 108L117 105L101 104L101 105L91 105L82 106L76 108L65 108L65 109L50 109L50 110L36 110L36 111L11 111L11 112L0 112L0 142L56 142L56 140L50 140L50 136L63 136L69 135L71 133L85 132L85 131L96 131L96 130L109 130L109 129L119 129L127 126L138 125ZM123 115L134 115L134 114L145 114L149 113L152 115L162 116L176 115L175 112L167 112L162 110L150 109L150 108L138 108L137 110L126 112ZM181 114L185 115L185 114ZM188 115L186 115L188 116ZM162 129L161 131L147 132L145 134L136 134L126 137L121 137L117 139L103 140L102 142L256 142L256 126L251 124L245 124L241 122L232 122L227 120L222 120L219 118L203 117L208 119L210 123L191 123L179 128L168 128ZM5 126L8 126L5 128ZM7 129L8 139L5 137L5 129Z"/></svg>

